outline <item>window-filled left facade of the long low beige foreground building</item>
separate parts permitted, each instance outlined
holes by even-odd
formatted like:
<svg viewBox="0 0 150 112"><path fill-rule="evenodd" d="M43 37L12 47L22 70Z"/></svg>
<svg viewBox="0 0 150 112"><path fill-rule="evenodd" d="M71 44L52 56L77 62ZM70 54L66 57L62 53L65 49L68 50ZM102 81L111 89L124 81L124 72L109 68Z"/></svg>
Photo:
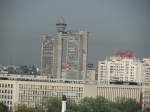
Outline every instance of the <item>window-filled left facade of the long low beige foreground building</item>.
<svg viewBox="0 0 150 112"><path fill-rule="evenodd" d="M17 104L36 107L42 104L44 97L50 96L62 97L62 95L66 95L76 103L84 97L83 84L5 80L1 81L0 85L0 101L8 105L9 109L14 108Z"/></svg>

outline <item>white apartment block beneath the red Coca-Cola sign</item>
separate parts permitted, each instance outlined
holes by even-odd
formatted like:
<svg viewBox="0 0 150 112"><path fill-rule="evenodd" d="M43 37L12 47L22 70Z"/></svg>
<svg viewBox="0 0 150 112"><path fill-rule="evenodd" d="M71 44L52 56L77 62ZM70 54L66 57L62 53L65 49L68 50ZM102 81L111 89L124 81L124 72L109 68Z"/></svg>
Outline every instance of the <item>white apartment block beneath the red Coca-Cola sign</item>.
<svg viewBox="0 0 150 112"><path fill-rule="evenodd" d="M98 62L98 83L105 81L142 82L142 65L136 58L110 57Z"/></svg>

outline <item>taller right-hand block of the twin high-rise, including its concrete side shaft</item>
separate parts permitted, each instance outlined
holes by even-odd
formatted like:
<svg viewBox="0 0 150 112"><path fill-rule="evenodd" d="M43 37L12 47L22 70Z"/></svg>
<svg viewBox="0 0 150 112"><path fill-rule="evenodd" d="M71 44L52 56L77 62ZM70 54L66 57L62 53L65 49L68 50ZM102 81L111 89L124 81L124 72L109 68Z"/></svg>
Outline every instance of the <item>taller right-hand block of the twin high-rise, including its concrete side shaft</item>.
<svg viewBox="0 0 150 112"><path fill-rule="evenodd" d="M66 77L86 79L88 32L70 30L67 33Z"/></svg>

